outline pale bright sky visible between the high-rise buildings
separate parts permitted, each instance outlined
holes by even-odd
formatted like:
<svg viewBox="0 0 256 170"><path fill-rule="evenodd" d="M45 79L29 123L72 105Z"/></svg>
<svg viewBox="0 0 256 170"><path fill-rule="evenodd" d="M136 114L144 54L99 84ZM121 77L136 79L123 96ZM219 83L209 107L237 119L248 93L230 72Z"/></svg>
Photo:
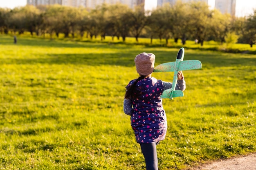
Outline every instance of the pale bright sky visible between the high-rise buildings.
<svg viewBox="0 0 256 170"><path fill-rule="evenodd" d="M214 0L209 0L209 5L214 7ZM13 9L18 6L25 6L27 0L0 0L0 7ZM145 9L152 9L157 6L157 0L145 0ZM236 16L245 16L253 13L256 9L256 0L236 0Z"/></svg>

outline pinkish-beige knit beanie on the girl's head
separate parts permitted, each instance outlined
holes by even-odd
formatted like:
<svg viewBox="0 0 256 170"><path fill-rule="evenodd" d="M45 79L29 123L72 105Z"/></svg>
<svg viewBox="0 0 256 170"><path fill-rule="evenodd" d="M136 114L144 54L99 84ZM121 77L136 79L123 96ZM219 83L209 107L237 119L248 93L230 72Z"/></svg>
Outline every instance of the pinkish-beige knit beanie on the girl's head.
<svg viewBox="0 0 256 170"><path fill-rule="evenodd" d="M134 59L139 75L150 75L154 71L155 55L153 53L140 53Z"/></svg>

